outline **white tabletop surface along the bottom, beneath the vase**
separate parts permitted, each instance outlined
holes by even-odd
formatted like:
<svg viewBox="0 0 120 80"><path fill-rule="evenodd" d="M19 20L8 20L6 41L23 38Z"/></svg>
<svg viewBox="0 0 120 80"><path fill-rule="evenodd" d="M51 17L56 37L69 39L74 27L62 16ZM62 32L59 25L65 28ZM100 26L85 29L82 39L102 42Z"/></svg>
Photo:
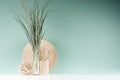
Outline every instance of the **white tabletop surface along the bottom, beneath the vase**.
<svg viewBox="0 0 120 80"><path fill-rule="evenodd" d="M69 74L52 74L52 75L0 75L0 80L120 80L119 75L69 75Z"/></svg>

